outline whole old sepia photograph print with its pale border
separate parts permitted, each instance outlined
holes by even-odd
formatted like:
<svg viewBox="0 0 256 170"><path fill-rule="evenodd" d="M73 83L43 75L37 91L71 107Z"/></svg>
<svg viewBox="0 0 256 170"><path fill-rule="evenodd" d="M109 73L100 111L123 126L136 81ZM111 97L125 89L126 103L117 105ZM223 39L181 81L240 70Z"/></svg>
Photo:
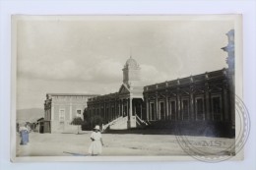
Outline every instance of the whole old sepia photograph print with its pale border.
<svg viewBox="0 0 256 170"><path fill-rule="evenodd" d="M243 154L241 20L13 16L13 161Z"/></svg>

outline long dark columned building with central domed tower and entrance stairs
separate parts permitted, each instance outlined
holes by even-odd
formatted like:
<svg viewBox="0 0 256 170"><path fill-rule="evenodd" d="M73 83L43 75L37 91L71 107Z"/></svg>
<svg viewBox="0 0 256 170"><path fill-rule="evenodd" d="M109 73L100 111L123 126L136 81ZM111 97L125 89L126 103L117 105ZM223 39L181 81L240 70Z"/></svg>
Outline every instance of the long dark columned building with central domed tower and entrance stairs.
<svg viewBox="0 0 256 170"><path fill-rule="evenodd" d="M123 84L115 93L90 98L87 112L103 119L103 129L168 125L234 125L234 31L226 33L228 68L183 79L142 86L141 68L129 58Z"/></svg>

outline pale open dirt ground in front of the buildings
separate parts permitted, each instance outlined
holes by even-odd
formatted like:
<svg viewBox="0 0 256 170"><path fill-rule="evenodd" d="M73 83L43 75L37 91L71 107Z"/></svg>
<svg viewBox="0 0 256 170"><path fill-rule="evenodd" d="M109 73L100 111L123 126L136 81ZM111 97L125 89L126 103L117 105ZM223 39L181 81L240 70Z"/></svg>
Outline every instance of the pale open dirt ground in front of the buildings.
<svg viewBox="0 0 256 170"><path fill-rule="evenodd" d="M87 156L91 144L90 131L81 134L30 134L30 142L20 145L20 137L17 134L17 156ZM219 145L213 145L220 149L221 143L228 145L231 139L214 139L207 137L189 137L190 140L207 141L218 140ZM117 155L186 155L173 135L143 135L143 134L102 134L104 146L102 156ZM202 143L200 143L202 144ZM204 144L204 143L203 143ZM222 144L223 145L223 144ZM205 146L205 145L203 145Z"/></svg>

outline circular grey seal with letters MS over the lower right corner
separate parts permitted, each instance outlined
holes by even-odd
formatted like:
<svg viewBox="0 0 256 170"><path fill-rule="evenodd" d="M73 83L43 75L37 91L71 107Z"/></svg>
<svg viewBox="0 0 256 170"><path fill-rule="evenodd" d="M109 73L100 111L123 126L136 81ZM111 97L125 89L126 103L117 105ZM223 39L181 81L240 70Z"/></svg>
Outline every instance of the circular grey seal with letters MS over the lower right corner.
<svg viewBox="0 0 256 170"><path fill-rule="evenodd" d="M235 156L244 146L250 132L248 110L237 95L234 96L233 121L207 122L199 126L200 136L191 136L182 126L176 126L176 140L180 147L195 159L205 162L220 162ZM230 111L230 110L228 110ZM230 111L231 112L231 111Z"/></svg>

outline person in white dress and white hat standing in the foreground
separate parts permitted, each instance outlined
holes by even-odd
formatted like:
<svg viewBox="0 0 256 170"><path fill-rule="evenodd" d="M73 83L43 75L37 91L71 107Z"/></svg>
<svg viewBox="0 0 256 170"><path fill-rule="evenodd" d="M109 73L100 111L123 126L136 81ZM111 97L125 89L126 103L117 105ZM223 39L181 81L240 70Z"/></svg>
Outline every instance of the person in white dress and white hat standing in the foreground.
<svg viewBox="0 0 256 170"><path fill-rule="evenodd" d="M96 156L96 155L101 154L103 141L102 141L102 138L101 138L101 133L99 132L99 126L98 125L96 125L96 128L94 128L94 132L91 135L91 140L92 140L92 143L89 147L89 153L92 156Z"/></svg>

